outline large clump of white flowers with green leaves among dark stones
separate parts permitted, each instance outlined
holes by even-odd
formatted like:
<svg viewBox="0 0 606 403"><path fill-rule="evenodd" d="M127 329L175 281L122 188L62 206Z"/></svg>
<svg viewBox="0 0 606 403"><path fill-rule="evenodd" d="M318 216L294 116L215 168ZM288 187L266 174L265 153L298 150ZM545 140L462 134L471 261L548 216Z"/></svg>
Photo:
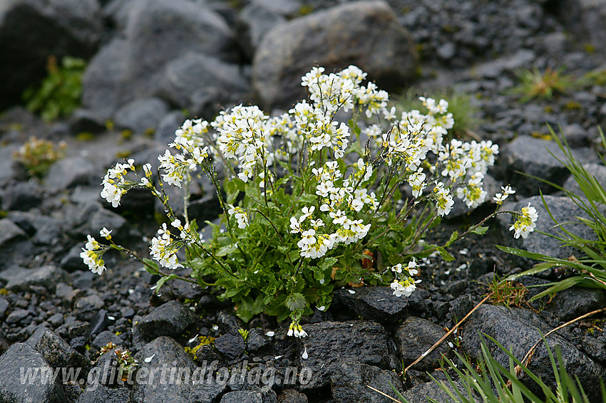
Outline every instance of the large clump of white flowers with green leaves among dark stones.
<svg viewBox="0 0 606 403"><path fill-rule="evenodd" d="M444 246L424 242L456 200L472 208L485 201L482 181L498 146L447 141L454 120L446 100L420 98L426 111L397 115L388 94L365 78L356 66L330 74L312 68L302 78L309 99L288 112L272 117L238 105L212 122L185 120L173 150L158 157L157 177L150 164L140 174L132 159L108 170L101 196L113 206L142 187L167 211L170 225L151 240L153 260L128 251L162 276L156 291L178 278L165 269L189 267L192 278L183 279L222 289L243 320L261 312L290 317L288 335L304 337L302 315L328 308L335 287L391 283L394 295L406 297L420 281L414 256L437 250L451 260L445 247L471 232L483 234L481 225L501 212L518 218L516 238L533 231L531 207L500 211L514 193L503 187L486 219ZM348 122L339 121L343 116ZM211 239L202 238L187 213L188 184L200 173L212 181L223 209L220 225L208 223ZM183 188L183 216L173 213L165 186ZM108 248L127 251L110 232L101 231L108 245L89 236L81 254L96 273L105 269L101 256ZM179 261L183 248L186 258Z"/></svg>

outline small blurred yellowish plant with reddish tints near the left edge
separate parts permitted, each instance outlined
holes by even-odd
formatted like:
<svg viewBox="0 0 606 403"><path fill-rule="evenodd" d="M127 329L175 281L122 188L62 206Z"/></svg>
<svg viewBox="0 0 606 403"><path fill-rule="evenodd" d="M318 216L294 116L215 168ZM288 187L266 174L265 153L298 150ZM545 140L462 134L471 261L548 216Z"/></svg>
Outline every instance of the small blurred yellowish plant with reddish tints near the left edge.
<svg viewBox="0 0 606 403"><path fill-rule="evenodd" d="M43 177L53 162L65 157L66 147L63 141L55 145L50 140L32 136L13 153L13 159L23 165L30 177Z"/></svg>

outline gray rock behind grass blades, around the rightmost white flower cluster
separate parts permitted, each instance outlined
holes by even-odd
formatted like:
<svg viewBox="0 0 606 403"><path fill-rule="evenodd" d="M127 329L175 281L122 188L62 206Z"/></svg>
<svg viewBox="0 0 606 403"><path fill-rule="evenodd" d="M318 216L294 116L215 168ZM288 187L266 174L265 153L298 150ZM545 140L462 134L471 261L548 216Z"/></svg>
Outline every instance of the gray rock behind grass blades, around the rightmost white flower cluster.
<svg viewBox="0 0 606 403"><path fill-rule="evenodd" d="M560 223L563 222L579 222L575 219L575 217L580 216L584 218L588 218L585 211L583 211L574 201L572 201L569 197L561 197L561 196L551 196L545 195L545 203L547 203L551 214L553 217ZM557 239L546 236L543 234L538 234L536 231L543 231L548 234L564 236L565 239L568 239L568 235L566 235L561 229L553 229L555 223L551 219L547 209L543 206L543 201L540 196L529 197L528 199L523 199L515 205L514 210L520 211L525 206L533 206L537 210L538 219L536 221L535 232L531 232L528 234L528 237L525 239L515 240L513 239L513 230L509 233L510 236L507 236L505 239L508 239L510 242L510 246L521 247L527 251L533 253L543 253L547 256L553 256L557 258L568 258L573 255L577 255L580 257L580 252L572 248L572 246L562 247L560 245L560 241ZM513 224L513 219L511 220ZM576 234L577 236L581 236L584 239L596 239L595 233L590 229L590 227L585 224L567 224L566 229L570 231L572 234ZM507 227L509 229L509 227Z"/></svg>

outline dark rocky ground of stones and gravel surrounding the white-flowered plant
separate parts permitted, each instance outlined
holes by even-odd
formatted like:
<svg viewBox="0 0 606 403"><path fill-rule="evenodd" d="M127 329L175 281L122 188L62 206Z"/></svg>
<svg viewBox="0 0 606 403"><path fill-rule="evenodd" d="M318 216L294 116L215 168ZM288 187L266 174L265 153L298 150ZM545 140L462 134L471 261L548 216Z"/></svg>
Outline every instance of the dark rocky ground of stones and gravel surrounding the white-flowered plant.
<svg viewBox="0 0 606 403"><path fill-rule="evenodd" d="M403 366L483 298L483 284L530 267L495 244L563 258L572 251L539 234L514 242L508 219L497 219L486 236L453 245L455 261L424 262L423 282L410 298L381 287L338 290L327 312L304 318L309 337L300 340L286 336L289 323L265 315L242 323L212 289L173 282L155 295L157 279L127 256L107 255L109 270L101 277L79 257L86 234L103 226L114 230L116 241L147 253L155 214L163 213L142 193L129 194L119 209L101 199L101 177L115 161L128 156L153 162L186 116L210 120L235 103L285 108L304 95L299 79L315 63L327 70L354 63L394 93L412 85L419 95L443 89L471 95L478 119L471 135L501 147L491 177L518 190L514 207L528 201L537 206L543 213L538 229L550 231L539 188L556 218L570 219L579 209L516 172L573 189L568 172L548 152L561 155L544 138L547 123L561 127L577 159L606 183L606 167L595 152L597 125L606 127L604 16L603 1L583 0L9 2L0 8L0 76L7 83L0 93L0 402L389 402L366 385L393 396L390 383L410 402L446 402L427 375L443 379L436 370L441 354L454 357L457 350L473 362L480 355L478 333L486 333L523 357L540 332L604 307L604 293L589 289L533 306L483 305L458 333L461 345L442 345L403 380ZM52 124L16 106L21 92L44 74L49 54L89 63L82 108ZM565 94L520 103L510 90L520 68L565 68L577 78L590 72L595 78ZM42 179L29 179L12 158L32 135L67 144L66 157ZM198 222L215 219L212 187L198 185L190 213ZM453 229L467 228L492 209L490 202L476 211L460 209L433 237L446 241ZM557 276L520 281L531 286ZM548 338L590 393L606 378L603 318ZM240 329L250 332L246 342ZM230 375L230 382L212 377L167 384L156 377L128 385L89 376L115 367L112 354L99 357L108 342L130 350L139 371L195 371L217 361L213 370L229 368L227 375L272 370L273 382ZM506 362L502 353L495 356ZM296 368L294 382L289 367ZM19 368L83 372L73 382L24 386ZM553 377L545 349L530 368L543 380Z"/></svg>

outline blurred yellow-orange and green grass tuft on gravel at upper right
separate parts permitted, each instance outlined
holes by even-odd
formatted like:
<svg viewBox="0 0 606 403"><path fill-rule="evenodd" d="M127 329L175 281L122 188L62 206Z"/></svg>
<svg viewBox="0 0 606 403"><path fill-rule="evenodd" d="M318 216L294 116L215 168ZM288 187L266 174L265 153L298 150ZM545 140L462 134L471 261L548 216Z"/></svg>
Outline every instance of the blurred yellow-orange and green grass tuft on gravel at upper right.
<svg viewBox="0 0 606 403"><path fill-rule="evenodd" d="M518 85L511 89L511 93L520 95L520 102L527 103L535 98L549 100L554 95L565 94L575 85L575 79L563 74L563 69L554 70L538 68L520 70L517 73Z"/></svg>

